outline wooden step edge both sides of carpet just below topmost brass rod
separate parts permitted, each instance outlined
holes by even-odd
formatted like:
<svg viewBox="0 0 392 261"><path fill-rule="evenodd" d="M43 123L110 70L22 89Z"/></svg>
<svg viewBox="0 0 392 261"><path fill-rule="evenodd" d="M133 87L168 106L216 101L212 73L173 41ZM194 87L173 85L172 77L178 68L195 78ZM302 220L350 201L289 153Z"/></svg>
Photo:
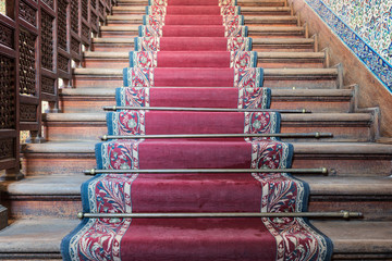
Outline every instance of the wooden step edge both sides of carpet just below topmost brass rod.
<svg viewBox="0 0 392 261"><path fill-rule="evenodd" d="M146 108L148 110L148 108ZM154 112L152 112L154 113ZM181 114L183 112L168 112ZM209 115L219 114L219 112L206 112ZM370 113L310 113L310 114L282 114L284 122L332 122L334 124L350 122L371 122ZM106 113L44 113L45 122L106 122Z"/></svg>

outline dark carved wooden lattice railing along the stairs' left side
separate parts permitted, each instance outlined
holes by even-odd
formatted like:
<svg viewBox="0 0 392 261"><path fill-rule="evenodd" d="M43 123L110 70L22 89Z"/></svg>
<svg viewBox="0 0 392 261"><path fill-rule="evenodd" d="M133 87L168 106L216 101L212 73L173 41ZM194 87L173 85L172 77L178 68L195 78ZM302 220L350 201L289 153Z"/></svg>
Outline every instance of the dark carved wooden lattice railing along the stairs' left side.
<svg viewBox="0 0 392 261"><path fill-rule="evenodd" d="M60 83L91 45L115 0L7 0L0 14L0 170L20 173L20 132L41 140L41 103L59 105Z"/></svg>

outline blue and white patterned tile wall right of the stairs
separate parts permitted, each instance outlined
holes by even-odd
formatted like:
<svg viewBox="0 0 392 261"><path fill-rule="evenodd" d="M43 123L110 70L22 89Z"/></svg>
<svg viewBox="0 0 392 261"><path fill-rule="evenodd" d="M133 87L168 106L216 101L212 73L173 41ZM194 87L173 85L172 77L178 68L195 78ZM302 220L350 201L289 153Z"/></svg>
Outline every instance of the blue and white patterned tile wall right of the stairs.
<svg viewBox="0 0 392 261"><path fill-rule="evenodd" d="M392 0L306 0L392 92Z"/></svg>

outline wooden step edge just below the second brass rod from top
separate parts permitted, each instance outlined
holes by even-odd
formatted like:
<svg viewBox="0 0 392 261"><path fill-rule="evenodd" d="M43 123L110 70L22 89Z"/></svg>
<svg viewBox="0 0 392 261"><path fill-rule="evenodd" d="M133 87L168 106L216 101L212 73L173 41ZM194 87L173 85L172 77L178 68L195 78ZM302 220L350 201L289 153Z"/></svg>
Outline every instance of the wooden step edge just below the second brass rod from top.
<svg viewBox="0 0 392 261"><path fill-rule="evenodd" d="M192 144L193 141L187 141ZM196 142L196 141L195 141ZM198 142L198 141L197 141ZM208 141L205 141L208 142ZM226 141L231 142L231 141ZM234 141L233 141L234 142ZM25 144L23 153L94 153L97 141L49 141L45 144ZM292 142L296 154L385 154L392 159L392 145L375 142Z"/></svg>

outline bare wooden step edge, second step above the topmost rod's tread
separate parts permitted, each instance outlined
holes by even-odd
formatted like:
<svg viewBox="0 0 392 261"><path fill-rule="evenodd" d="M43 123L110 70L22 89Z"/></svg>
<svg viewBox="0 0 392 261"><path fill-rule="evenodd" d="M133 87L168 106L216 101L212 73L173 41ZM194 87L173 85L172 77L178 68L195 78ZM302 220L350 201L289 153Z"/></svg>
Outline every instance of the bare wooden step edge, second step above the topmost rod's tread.
<svg viewBox="0 0 392 261"><path fill-rule="evenodd" d="M265 69L265 76L338 76L338 69ZM122 77L122 69L73 69L73 74Z"/></svg>

